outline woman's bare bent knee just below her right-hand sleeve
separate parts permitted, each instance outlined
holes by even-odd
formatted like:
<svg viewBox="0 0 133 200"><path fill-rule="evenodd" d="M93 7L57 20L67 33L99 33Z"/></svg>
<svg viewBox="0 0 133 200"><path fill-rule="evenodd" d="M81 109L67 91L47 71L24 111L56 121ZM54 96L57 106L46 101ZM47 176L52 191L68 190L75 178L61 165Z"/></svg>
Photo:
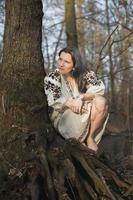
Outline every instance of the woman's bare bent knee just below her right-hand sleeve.
<svg viewBox="0 0 133 200"><path fill-rule="evenodd" d="M101 95L97 95L94 98L93 103L99 112L107 112L108 111L108 103L107 103L107 99L105 97L103 97Z"/></svg>

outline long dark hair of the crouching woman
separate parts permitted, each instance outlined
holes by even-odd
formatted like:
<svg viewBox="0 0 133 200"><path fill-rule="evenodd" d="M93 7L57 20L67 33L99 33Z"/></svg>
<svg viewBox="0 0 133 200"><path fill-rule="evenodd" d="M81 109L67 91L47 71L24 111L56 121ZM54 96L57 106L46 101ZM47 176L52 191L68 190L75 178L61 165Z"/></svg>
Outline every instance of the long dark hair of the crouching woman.
<svg viewBox="0 0 133 200"><path fill-rule="evenodd" d="M74 70L72 71L72 76L78 83L79 91L83 92L84 90L84 83L82 82L83 74L86 73L88 70L83 62L81 54L76 47L65 47L59 51L59 56L62 52L69 53L72 57Z"/></svg>

